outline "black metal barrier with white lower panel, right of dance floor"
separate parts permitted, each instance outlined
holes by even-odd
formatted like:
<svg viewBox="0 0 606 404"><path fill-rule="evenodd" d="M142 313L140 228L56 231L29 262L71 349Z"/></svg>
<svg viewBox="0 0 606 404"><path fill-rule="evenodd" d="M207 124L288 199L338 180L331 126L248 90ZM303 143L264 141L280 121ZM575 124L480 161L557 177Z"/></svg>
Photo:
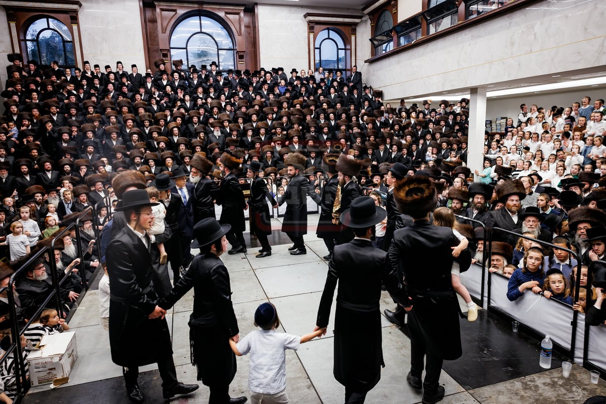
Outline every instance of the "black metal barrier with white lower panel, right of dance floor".
<svg viewBox="0 0 606 404"><path fill-rule="evenodd" d="M545 299L540 294L530 291L513 302L507 299L508 278L499 273L489 273L487 268L490 266L489 257L493 240L504 235L515 235L528 239L528 237L511 231L493 228L488 234L485 234L488 242L484 243L486 267L482 268L481 265L472 264L469 270L461 274L461 283L465 285L474 299L484 302L484 308L491 313L499 314L509 320L517 320L521 329L535 334L539 339L549 335L554 345L565 356L587 369L600 371L604 376L606 373L606 356L604 355L606 352L606 326L604 324L587 325L585 324L585 314L572 310L571 306L559 302L559 300ZM568 251L580 261L580 257L575 251L540 240L533 239L533 241L540 243L546 251L553 247ZM575 296L578 296L581 284L580 276L581 271L578 271ZM588 284L591 284L590 277L591 272L589 271ZM588 299L587 305L590 304Z"/></svg>

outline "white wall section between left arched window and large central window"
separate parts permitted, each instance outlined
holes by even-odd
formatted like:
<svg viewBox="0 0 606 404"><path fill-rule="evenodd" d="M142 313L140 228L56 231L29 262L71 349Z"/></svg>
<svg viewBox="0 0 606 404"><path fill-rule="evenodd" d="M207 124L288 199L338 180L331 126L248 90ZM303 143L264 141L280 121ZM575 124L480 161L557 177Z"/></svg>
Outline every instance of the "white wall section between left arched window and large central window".
<svg viewBox="0 0 606 404"><path fill-rule="evenodd" d="M145 74L141 12L136 0L80 0L78 13L82 36L83 58L93 64L116 68L116 61L136 64ZM84 67L82 65L81 67ZM153 68L153 66L152 66Z"/></svg>

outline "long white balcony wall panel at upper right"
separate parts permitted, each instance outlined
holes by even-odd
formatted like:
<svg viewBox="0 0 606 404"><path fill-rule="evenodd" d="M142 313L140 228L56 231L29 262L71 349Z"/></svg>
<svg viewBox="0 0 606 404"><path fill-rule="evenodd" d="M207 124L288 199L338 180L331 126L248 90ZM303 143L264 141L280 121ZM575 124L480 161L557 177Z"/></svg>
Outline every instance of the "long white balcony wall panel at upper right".
<svg viewBox="0 0 606 404"><path fill-rule="evenodd" d="M606 65L603 24L598 0L536 2L368 64L366 79L399 99Z"/></svg>

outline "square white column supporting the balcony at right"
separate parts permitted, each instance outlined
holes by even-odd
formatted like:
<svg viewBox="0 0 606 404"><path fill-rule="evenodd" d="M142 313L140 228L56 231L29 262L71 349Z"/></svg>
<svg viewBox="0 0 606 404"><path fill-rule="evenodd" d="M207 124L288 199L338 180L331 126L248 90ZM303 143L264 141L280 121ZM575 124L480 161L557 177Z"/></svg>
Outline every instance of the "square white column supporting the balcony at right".
<svg viewBox="0 0 606 404"><path fill-rule="evenodd" d="M486 127L486 88L471 88L469 105L469 130L467 139L467 167L473 173L482 171L484 156L484 129Z"/></svg>

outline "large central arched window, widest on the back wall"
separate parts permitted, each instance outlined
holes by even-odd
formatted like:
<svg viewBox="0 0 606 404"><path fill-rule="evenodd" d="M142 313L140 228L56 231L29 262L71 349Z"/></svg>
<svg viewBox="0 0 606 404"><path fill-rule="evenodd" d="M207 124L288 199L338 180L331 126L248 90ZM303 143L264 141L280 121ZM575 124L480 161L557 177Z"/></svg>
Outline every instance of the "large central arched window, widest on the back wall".
<svg viewBox="0 0 606 404"><path fill-rule="evenodd" d="M227 29L205 15L185 18L170 35L171 59L186 66L217 62L220 70L235 68L236 50Z"/></svg>

